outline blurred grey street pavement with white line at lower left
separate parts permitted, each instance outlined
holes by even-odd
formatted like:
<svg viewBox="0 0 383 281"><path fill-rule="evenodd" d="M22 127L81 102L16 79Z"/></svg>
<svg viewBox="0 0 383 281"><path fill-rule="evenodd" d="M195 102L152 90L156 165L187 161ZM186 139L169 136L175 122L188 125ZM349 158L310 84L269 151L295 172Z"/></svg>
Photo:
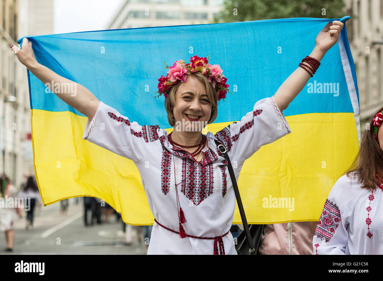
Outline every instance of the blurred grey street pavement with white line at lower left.
<svg viewBox="0 0 383 281"><path fill-rule="evenodd" d="M5 235L1 233L0 254L134 254L146 255L146 245L137 239L137 226L132 229L132 242L125 243L121 219L110 217L110 223L85 227L83 198L78 205L75 198L69 199L66 215L60 213L60 202L35 208L34 228L26 230L26 212L15 220L13 252L5 252ZM103 219L103 217L102 217Z"/></svg>

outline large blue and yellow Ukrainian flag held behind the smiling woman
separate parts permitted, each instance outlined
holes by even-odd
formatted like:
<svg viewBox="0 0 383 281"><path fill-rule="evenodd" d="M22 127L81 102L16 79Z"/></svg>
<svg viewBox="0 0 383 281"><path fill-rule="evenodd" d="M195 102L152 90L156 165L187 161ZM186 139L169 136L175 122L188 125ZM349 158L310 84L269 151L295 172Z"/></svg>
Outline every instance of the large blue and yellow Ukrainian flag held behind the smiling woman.
<svg viewBox="0 0 383 281"><path fill-rule="evenodd" d="M82 84L130 120L159 125L167 132L172 128L164 97L152 98L157 79L167 71L164 61L171 65L194 55L210 55L234 94L220 101L216 122L206 127L216 133L241 120L258 100L272 96L311 53L315 37L330 20L339 19L270 19L25 37L33 42L39 63ZM83 140L87 117L27 73L34 169L44 205L92 196L122 213L126 223L153 224L133 161ZM260 148L237 179L249 223L318 221L329 191L358 151L358 88L345 25L318 71L283 113L292 133ZM241 223L238 209L234 223Z"/></svg>

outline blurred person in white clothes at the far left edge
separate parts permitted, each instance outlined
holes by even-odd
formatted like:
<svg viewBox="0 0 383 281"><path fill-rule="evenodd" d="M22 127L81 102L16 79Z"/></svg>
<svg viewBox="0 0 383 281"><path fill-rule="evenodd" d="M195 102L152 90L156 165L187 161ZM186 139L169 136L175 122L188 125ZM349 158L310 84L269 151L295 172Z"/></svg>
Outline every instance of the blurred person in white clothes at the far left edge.
<svg viewBox="0 0 383 281"><path fill-rule="evenodd" d="M10 184L9 178L2 174L0 176L1 182L1 200L4 202L4 205L0 205L0 231L5 233L5 241L7 243L7 252L13 251L13 241L15 239L15 232L13 231L14 221L15 221L15 211L18 214L19 218L21 215L21 206L18 206L17 203L12 204L13 208L10 208L9 203L12 200L18 202L17 200L17 189L14 185Z"/></svg>

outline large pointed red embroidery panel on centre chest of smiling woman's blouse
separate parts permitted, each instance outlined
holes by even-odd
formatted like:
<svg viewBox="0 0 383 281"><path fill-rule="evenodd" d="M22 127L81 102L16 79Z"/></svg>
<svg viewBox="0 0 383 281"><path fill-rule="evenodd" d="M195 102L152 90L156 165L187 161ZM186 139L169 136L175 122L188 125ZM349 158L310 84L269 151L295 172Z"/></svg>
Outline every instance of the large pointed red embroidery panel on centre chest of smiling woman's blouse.
<svg viewBox="0 0 383 281"><path fill-rule="evenodd" d="M181 192L194 205L199 205L214 189L213 165L202 166L199 162L182 161Z"/></svg>

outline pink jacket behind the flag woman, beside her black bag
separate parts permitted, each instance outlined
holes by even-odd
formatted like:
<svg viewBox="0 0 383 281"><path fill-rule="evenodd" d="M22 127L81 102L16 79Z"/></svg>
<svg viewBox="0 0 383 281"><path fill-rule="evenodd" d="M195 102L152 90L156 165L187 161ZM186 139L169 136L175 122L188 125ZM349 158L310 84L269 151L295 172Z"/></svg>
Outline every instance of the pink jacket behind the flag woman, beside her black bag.
<svg viewBox="0 0 383 281"><path fill-rule="evenodd" d="M312 221L267 224L260 255L312 255L316 223Z"/></svg>

